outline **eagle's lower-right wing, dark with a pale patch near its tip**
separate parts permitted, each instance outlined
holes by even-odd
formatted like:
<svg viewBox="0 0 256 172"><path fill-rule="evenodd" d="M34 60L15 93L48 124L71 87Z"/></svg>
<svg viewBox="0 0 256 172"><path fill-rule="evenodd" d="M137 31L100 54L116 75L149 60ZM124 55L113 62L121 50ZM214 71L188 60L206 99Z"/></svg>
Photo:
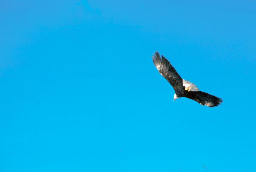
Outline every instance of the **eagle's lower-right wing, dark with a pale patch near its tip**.
<svg viewBox="0 0 256 172"><path fill-rule="evenodd" d="M189 91L184 95L184 97L195 100L199 104L208 107L218 106L222 102L221 98L217 98L216 96L205 93L203 91Z"/></svg>

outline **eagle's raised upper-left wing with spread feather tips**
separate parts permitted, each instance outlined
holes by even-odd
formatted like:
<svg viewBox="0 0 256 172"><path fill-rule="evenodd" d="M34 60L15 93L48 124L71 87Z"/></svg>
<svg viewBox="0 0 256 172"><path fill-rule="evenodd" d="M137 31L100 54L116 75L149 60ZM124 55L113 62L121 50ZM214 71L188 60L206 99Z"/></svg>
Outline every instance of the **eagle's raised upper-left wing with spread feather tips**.
<svg viewBox="0 0 256 172"><path fill-rule="evenodd" d="M155 54L152 56L154 65L158 69L159 73L164 76L164 78L170 82L174 90L184 90L182 79L180 75L176 72L175 68L170 64L170 62L165 59L165 57L162 55L162 58L160 58L160 55L158 52L155 52Z"/></svg>

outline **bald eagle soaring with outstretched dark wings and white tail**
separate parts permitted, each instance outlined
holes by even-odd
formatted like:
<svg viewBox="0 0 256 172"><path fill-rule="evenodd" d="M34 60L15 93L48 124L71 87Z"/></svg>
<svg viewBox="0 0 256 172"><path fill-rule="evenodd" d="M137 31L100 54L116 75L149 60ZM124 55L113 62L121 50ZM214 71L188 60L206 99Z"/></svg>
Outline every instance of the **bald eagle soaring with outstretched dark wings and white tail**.
<svg viewBox="0 0 256 172"><path fill-rule="evenodd" d="M208 107L218 106L222 102L221 98L199 91L195 84L182 79L163 55L162 58L160 58L159 53L155 52L152 58L159 73L172 85L175 91L173 101L177 98L186 97Z"/></svg>

